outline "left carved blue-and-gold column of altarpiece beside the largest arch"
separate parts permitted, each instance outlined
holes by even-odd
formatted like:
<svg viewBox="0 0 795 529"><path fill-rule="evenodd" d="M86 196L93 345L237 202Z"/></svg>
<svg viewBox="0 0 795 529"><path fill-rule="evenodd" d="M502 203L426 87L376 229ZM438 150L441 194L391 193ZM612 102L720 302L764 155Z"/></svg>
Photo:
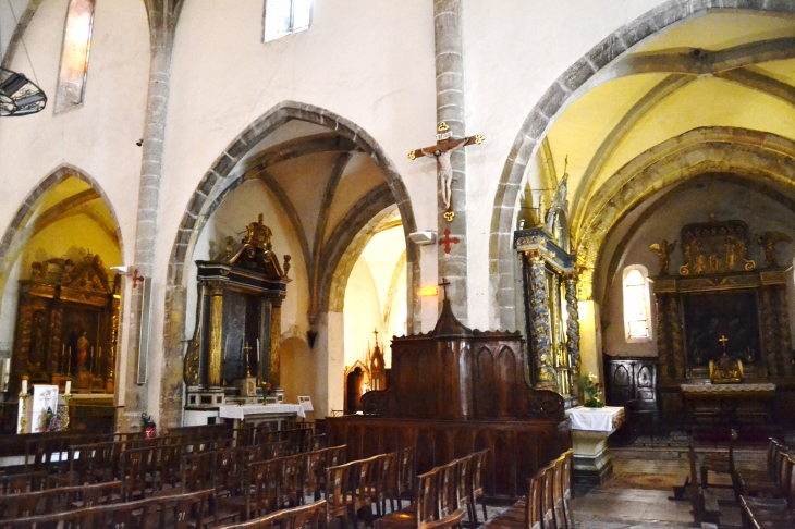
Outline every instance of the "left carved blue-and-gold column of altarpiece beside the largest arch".
<svg viewBox="0 0 795 529"><path fill-rule="evenodd" d="M552 319L549 311L549 291L545 257L539 250L528 250L527 266L530 282L530 350L536 366L536 387L558 390L558 377L552 358Z"/></svg>

